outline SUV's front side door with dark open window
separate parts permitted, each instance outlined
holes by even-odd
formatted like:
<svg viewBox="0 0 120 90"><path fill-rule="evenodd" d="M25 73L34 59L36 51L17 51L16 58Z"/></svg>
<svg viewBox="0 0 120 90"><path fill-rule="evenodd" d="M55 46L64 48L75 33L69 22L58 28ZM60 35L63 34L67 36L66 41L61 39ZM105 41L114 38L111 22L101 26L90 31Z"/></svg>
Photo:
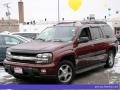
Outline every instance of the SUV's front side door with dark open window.
<svg viewBox="0 0 120 90"><path fill-rule="evenodd" d="M92 60L94 60L94 43L91 38L91 32L89 27L83 28L80 32L79 39L81 37L86 37L89 40L86 42L79 42L77 49L76 49L76 54L78 56L78 67L79 68L85 68L89 67L94 64Z"/></svg>

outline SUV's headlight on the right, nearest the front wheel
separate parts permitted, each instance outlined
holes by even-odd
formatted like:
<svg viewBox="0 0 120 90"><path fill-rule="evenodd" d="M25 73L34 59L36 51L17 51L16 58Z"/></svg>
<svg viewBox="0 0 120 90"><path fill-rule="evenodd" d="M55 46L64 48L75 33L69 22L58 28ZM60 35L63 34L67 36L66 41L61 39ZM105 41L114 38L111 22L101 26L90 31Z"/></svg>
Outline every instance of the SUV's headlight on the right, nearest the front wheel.
<svg viewBox="0 0 120 90"><path fill-rule="evenodd" d="M36 63L51 63L52 53L43 53L37 55Z"/></svg>

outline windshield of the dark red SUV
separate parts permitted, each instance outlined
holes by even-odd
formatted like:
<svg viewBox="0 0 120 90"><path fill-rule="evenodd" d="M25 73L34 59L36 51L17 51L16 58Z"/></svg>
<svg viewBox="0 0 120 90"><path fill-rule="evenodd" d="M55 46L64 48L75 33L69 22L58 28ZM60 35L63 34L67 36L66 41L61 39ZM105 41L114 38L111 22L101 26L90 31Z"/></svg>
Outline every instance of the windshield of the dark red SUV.
<svg viewBox="0 0 120 90"><path fill-rule="evenodd" d="M42 41L71 41L75 35L75 27L56 26L42 31L37 40Z"/></svg>

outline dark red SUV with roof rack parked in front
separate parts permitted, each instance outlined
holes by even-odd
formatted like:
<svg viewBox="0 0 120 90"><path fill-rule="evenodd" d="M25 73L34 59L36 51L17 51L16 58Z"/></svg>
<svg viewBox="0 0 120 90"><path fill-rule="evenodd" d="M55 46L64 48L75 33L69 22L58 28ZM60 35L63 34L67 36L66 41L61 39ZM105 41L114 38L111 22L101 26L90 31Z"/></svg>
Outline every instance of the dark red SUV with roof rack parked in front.
<svg viewBox="0 0 120 90"><path fill-rule="evenodd" d="M5 71L16 78L55 76L70 83L75 74L113 67L118 41L102 21L64 22L42 31L36 40L7 50Z"/></svg>

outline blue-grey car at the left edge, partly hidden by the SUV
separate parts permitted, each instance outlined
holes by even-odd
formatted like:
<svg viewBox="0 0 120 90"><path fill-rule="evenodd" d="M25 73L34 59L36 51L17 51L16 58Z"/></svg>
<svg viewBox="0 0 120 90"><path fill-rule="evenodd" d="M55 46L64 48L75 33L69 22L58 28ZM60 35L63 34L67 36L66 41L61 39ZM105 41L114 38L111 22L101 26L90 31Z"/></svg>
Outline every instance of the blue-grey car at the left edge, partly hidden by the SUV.
<svg viewBox="0 0 120 90"><path fill-rule="evenodd" d="M5 59L8 47L25 42L30 42L30 40L19 35L0 34L0 63Z"/></svg>

